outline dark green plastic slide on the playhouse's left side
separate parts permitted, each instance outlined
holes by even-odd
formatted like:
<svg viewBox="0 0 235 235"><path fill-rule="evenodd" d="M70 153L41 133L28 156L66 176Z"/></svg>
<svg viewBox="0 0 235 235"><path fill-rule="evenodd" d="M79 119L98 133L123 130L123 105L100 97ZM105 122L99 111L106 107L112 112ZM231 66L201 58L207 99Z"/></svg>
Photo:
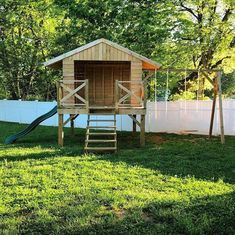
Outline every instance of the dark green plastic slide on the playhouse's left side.
<svg viewBox="0 0 235 235"><path fill-rule="evenodd" d="M42 116L36 118L31 124L29 124L23 131L8 136L5 140L5 144L12 144L16 140L23 138L27 134L29 134L31 131L33 131L41 122L45 121L46 119L52 117L57 113L57 106L55 106L52 110L50 110L48 113L43 114Z"/></svg>

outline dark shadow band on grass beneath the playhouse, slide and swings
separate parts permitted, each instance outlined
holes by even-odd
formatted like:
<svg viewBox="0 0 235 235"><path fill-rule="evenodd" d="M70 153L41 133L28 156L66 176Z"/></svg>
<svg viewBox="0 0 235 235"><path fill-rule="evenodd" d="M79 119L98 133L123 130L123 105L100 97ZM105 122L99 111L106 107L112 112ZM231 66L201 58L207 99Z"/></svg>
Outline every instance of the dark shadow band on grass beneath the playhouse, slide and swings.
<svg viewBox="0 0 235 235"><path fill-rule="evenodd" d="M10 126L8 133L22 129L17 124ZM118 132L117 154L97 155L99 159L110 162L125 162L128 165L139 165L172 176L194 176L198 179L217 181L222 179L235 183L235 141L234 137L226 137L226 144L221 145L219 138L207 140L204 136L179 136L173 134L146 134L147 144L140 148L139 133ZM65 147L57 146L57 128L39 126L15 145L4 145L8 149L31 148L40 146L42 153L30 153L17 157L7 156L12 161L60 157L64 155L78 156L83 154L85 130L76 129L75 137L70 136L69 128L65 128ZM51 148L52 152L43 152ZM2 156L2 159L4 157Z"/></svg>

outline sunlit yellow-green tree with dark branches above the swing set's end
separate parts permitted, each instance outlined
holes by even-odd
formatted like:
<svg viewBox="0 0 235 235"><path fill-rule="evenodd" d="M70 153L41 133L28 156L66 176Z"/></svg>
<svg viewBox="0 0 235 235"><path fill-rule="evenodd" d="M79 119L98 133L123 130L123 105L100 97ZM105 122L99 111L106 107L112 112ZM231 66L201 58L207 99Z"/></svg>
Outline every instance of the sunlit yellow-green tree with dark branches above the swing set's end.
<svg viewBox="0 0 235 235"><path fill-rule="evenodd" d="M172 40L180 53L190 58L188 67L195 69L222 69L232 72L235 66L234 3L228 0L175 0L177 19ZM180 60L181 61L181 60ZM207 75L211 75L208 72ZM198 78L196 72L187 81ZM205 78L202 77L204 83ZM180 92L180 80L174 93Z"/></svg>

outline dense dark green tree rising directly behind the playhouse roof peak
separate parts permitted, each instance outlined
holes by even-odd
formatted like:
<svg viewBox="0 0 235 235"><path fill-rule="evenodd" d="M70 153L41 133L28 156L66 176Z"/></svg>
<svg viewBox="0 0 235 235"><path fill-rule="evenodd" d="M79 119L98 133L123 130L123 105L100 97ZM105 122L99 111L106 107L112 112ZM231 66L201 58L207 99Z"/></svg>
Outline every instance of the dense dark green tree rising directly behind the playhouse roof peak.
<svg viewBox="0 0 235 235"><path fill-rule="evenodd" d="M57 38L60 53L103 37L153 57L156 48L170 34L167 21L162 21L169 12L163 10L163 3L156 1L56 0L55 3L66 12Z"/></svg>

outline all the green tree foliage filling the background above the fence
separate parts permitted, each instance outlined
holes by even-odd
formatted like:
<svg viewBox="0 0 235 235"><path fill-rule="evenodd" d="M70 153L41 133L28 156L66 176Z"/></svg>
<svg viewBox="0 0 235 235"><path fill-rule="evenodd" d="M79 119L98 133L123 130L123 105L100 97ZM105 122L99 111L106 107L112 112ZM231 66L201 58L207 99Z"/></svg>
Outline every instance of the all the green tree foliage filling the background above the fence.
<svg viewBox="0 0 235 235"><path fill-rule="evenodd" d="M55 98L60 74L45 70L42 62L102 37L163 67L232 73L234 15L230 0L2 0L0 94ZM177 75L169 82L170 95L182 97L181 80ZM187 80L194 84L197 76L188 74Z"/></svg>

